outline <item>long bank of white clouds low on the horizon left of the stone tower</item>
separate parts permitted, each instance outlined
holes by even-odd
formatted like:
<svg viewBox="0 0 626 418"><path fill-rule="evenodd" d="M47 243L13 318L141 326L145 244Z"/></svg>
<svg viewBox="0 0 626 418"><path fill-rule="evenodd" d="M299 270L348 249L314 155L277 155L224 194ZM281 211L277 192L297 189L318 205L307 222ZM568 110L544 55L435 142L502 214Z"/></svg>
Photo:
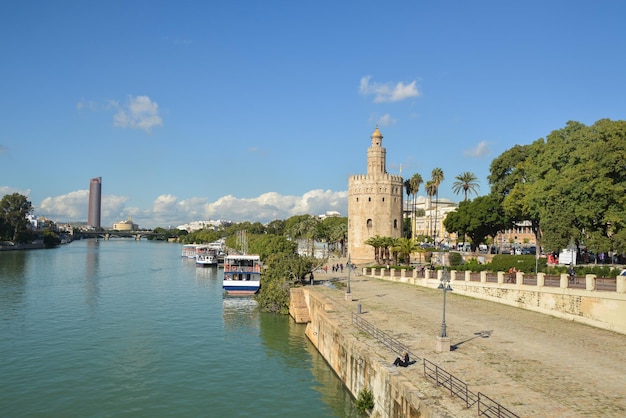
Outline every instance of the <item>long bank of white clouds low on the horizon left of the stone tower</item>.
<svg viewBox="0 0 626 418"><path fill-rule="evenodd" d="M329 210L347 216L347 199L346 191L331 190L311 190L302 196L285 196L275 192L254 198L228 195L214 202L209 202L205 197L178 200L176 196L164 194L158 196L150 208L140 209L126 207L126 197L103 195L101 224L104 227L112 226L129 217L141 228L177 226L199 220L267 223L294 215L321 215ZM57 222L86 221L88 202L89 191L78 190L44 199L35 208L35 214Z"/></svg>

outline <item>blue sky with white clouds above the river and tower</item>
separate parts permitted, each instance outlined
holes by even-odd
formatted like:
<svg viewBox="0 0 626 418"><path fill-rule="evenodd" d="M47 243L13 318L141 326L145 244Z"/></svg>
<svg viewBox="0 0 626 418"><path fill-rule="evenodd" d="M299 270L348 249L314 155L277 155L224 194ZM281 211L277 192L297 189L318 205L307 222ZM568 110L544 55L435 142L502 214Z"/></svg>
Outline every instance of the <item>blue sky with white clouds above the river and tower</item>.
<svg viewBox="0 0 626 418"><path fill-rule="evenodd" d="M626 2L0 3L0 196L102 225L338 211L387 171L463 172L568 121L626 117ZM423 185L418 195L424 195ZM406 195L405 195L406 196Z"/></svg>

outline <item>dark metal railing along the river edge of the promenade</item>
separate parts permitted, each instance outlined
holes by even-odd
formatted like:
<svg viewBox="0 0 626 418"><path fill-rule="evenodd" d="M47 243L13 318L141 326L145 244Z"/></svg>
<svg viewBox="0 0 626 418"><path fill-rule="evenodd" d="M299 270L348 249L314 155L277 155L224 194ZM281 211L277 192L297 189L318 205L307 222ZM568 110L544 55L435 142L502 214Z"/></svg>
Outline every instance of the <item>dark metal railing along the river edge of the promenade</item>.
<svg viewBox="0 0 626 418"><path fill-rule="evenodd" d="M421 359L414 353L411 353L407 345L401 343L386 332L376 328L370 322L354 312L352 313L352 324L359 330L376 338L382 345L389 348L391 351L398 354L406 352L409 353L409 356L412 359L421 360L424 367L424 377L431 379L436 386L442 386L448 389L451 396L455 396L463 400L466 408L471 408L472 406L477 405L478 416L490 418L519 418L519 415L505 408L487 395L481 392L472 392L467 383L448 373L435 363L426 359Z"/></svg>

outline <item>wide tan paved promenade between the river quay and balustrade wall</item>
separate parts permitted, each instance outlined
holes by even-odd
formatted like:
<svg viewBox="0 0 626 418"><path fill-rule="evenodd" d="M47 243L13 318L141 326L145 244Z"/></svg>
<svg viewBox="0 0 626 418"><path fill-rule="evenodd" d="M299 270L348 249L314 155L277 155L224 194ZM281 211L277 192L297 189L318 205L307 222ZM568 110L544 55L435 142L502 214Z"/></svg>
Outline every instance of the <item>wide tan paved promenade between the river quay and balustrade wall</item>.
<svg viewBox="0 0 626 418"><path fill-rule="evenodd" d="M482 392L522 417L626 417L626 335L452 291L446 293L446 324L453 350L438 353L441 290L353 271L353 299L348 302L345 287L323 285L345 283L347 273L345 268L333 273L329 265L328 273L315 275L315 291L331 299L347 324L361 305L363 319L464 381L474 393ZM376 350L395 369L391 365L397 353L382 345ZM424 387L419 362L397 369ZM463 405L458 398L446 402Z"/></svg>

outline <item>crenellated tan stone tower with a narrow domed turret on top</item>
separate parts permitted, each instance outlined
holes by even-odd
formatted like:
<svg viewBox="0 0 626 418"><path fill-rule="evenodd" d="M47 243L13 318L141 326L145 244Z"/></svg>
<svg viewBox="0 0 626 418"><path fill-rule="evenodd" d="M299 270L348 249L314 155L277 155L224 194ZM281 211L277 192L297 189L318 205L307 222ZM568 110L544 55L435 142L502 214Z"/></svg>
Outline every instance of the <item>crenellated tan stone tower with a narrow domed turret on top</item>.
<svg viewBox="0 0 626 418"><path fill-rule="evenodd" d="M401 176L387 173L387 150L376 127L367 149L367 174L348 180L348 252L353 263L374 262L374 247L365 244L371 237L402 236Z"/></svg>

